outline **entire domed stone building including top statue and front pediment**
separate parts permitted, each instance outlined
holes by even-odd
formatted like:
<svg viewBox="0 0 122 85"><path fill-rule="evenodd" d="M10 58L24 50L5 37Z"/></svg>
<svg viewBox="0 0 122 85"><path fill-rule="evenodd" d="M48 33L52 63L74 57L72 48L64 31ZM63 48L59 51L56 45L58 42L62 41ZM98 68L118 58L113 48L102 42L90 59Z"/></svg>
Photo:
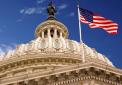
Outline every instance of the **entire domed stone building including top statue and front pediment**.
<svg viewBox="0 0 122 85"><path fill-rule="evenodd" d="M52 3L47 12L34 40L3 55L0 85L122 85L122 70L85 43L68 39Z"/></svg>

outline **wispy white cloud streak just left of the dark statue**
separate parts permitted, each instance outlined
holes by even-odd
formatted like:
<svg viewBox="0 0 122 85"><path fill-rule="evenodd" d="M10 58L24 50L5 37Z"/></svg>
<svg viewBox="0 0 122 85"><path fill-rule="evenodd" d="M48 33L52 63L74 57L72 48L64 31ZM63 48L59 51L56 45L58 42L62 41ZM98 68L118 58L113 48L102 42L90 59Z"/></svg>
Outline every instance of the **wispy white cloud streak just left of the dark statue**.
<svg viewBox="0 0 122 85"><path fill-rule="evenodd" d="M21 9L20 10L20 13L21 14L26 14L26 15L42 14L45 9L46 9L45 7L25 8L25 9Z"/></svg>

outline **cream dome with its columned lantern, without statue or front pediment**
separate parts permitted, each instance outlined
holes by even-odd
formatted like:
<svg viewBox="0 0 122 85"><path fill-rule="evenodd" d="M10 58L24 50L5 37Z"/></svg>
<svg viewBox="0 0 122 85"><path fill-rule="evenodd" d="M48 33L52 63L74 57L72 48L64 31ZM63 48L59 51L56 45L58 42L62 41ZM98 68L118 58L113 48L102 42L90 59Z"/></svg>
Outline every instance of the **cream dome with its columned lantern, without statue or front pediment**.
<svg viewBox="0 0 122 85"><path fill-rule="evenodd" d="M57 21L52 12L49 15L46 21L37 26L36 39L26 44L20 44L16 49L2 55L4 57L0 61L0 72L31 67L37 71L38 69L58 68L87 62L113 66L107 57L84 43L67 39L66 26ZM85 62L83 62L83 56Z"/></svg>

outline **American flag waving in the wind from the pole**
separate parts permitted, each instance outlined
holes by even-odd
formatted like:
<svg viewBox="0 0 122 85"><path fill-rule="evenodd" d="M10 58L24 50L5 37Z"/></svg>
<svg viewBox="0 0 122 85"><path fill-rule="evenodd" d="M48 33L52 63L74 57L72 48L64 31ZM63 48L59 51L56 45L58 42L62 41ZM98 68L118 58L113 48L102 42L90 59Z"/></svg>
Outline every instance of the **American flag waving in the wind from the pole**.
<svg viewBox="0 0 122 85"><path fill-rule="evenodd" d="M118 24L112 20L106 19L87 9L80 9L80 21L89 24L90 28L102 28L109 34L117 34Z"/></svg>

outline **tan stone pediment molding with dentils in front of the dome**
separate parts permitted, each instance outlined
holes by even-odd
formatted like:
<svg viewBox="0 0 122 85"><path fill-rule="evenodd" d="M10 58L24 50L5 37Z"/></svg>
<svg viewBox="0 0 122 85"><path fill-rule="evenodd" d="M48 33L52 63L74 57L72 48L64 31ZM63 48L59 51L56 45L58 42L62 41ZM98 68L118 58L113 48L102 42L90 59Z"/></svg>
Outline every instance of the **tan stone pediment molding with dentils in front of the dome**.
<svg viewBox="0 0 122 85"><path fill-rule="evenodd" d="M91 65L91 66L90 66ZM87 68L86 68L87 67ZM100 65L98 66L100 67ZM70 83L83 82L85 80L95 80L110 85L122 84L122 72L117 72L117 69L108 67L108 70L104 69L104 66L98 68L96 64L76 65L66 68L52 69L47 72L38 72L31 74L24 74L15 77L9 77L1 79L1 83L12 83L19 81L37 80L42 83L45 81L46 85L67 85ZM112 72L109 69L114 69Z"/></svg>

